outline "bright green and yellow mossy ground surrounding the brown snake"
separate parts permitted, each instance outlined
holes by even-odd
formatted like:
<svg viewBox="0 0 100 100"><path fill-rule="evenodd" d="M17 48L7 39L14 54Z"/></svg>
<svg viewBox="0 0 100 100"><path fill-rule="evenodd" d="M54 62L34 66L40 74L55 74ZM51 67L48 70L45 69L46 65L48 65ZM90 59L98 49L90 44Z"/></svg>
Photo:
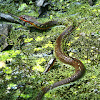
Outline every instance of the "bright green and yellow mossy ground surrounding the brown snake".
<svg viewBox="0 0 100 100"><path fill-rule="evenodd" d="M46 16L39 22L49 20L62 21L63 25L52 27L47 31L34 30L12 24L13 29L9 40L13 41L12 50L0 52L0 99L1 100L35 100L45 86L60 81L74 73L74 68L55 62L54 68L42 74L48 61L54 57L55 40L73 21L81 25L66 36L62 48L65 53L80 59L86 67L85 75L76 82L53 89L45 94L43 100L99 100L100 99L100 1L90 6L87 0L51 0ZM9 0L7 0L9 2ZM12 10L13 9L13 10ZM20 1L18 4L2 3L2 13L12 13L16 16L29 15L37 17L39 7L30 0L27 5ZM6 22L4 22L6 23ZM11 23L9 23L11 24ZM23 39L21 45L18 37ZM9 43L10 44L10 43Z"/></svg>

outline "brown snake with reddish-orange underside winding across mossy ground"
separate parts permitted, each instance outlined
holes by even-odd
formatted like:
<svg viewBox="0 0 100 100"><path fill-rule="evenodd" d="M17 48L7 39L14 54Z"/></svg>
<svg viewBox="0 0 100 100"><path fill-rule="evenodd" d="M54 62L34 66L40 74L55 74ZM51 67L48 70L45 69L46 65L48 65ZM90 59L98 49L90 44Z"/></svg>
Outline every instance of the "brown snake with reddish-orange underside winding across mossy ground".
<svg viewBox="0 0 100 100"><path fill-rule="evenodd" d="M19 18L22 21L28 22L29 24L33 25L35 28L40 29L40 30L46 30L58 24L57 21L48 21L46 23L39 23L35 18L31 16L27 16L27 15L21 15ZM55 49L54 49L56 58L65 64L69 64L73 66L75 68L75 73L68 78L55 82L54 84L50 86L44 87L42 91L38 94L36 100L42 100L44 94L47 93L49 90L56 88L58 86L64 85L64 84L69 84L70 82L74 82L80 79L84 75L85 70L86 70L84 64L79 59L66 55L62 50L62 40L64 39L65 36L69 36L72 33L72 31L75 29L76 27L74 24L67 27L56 39Z"/></svg>

